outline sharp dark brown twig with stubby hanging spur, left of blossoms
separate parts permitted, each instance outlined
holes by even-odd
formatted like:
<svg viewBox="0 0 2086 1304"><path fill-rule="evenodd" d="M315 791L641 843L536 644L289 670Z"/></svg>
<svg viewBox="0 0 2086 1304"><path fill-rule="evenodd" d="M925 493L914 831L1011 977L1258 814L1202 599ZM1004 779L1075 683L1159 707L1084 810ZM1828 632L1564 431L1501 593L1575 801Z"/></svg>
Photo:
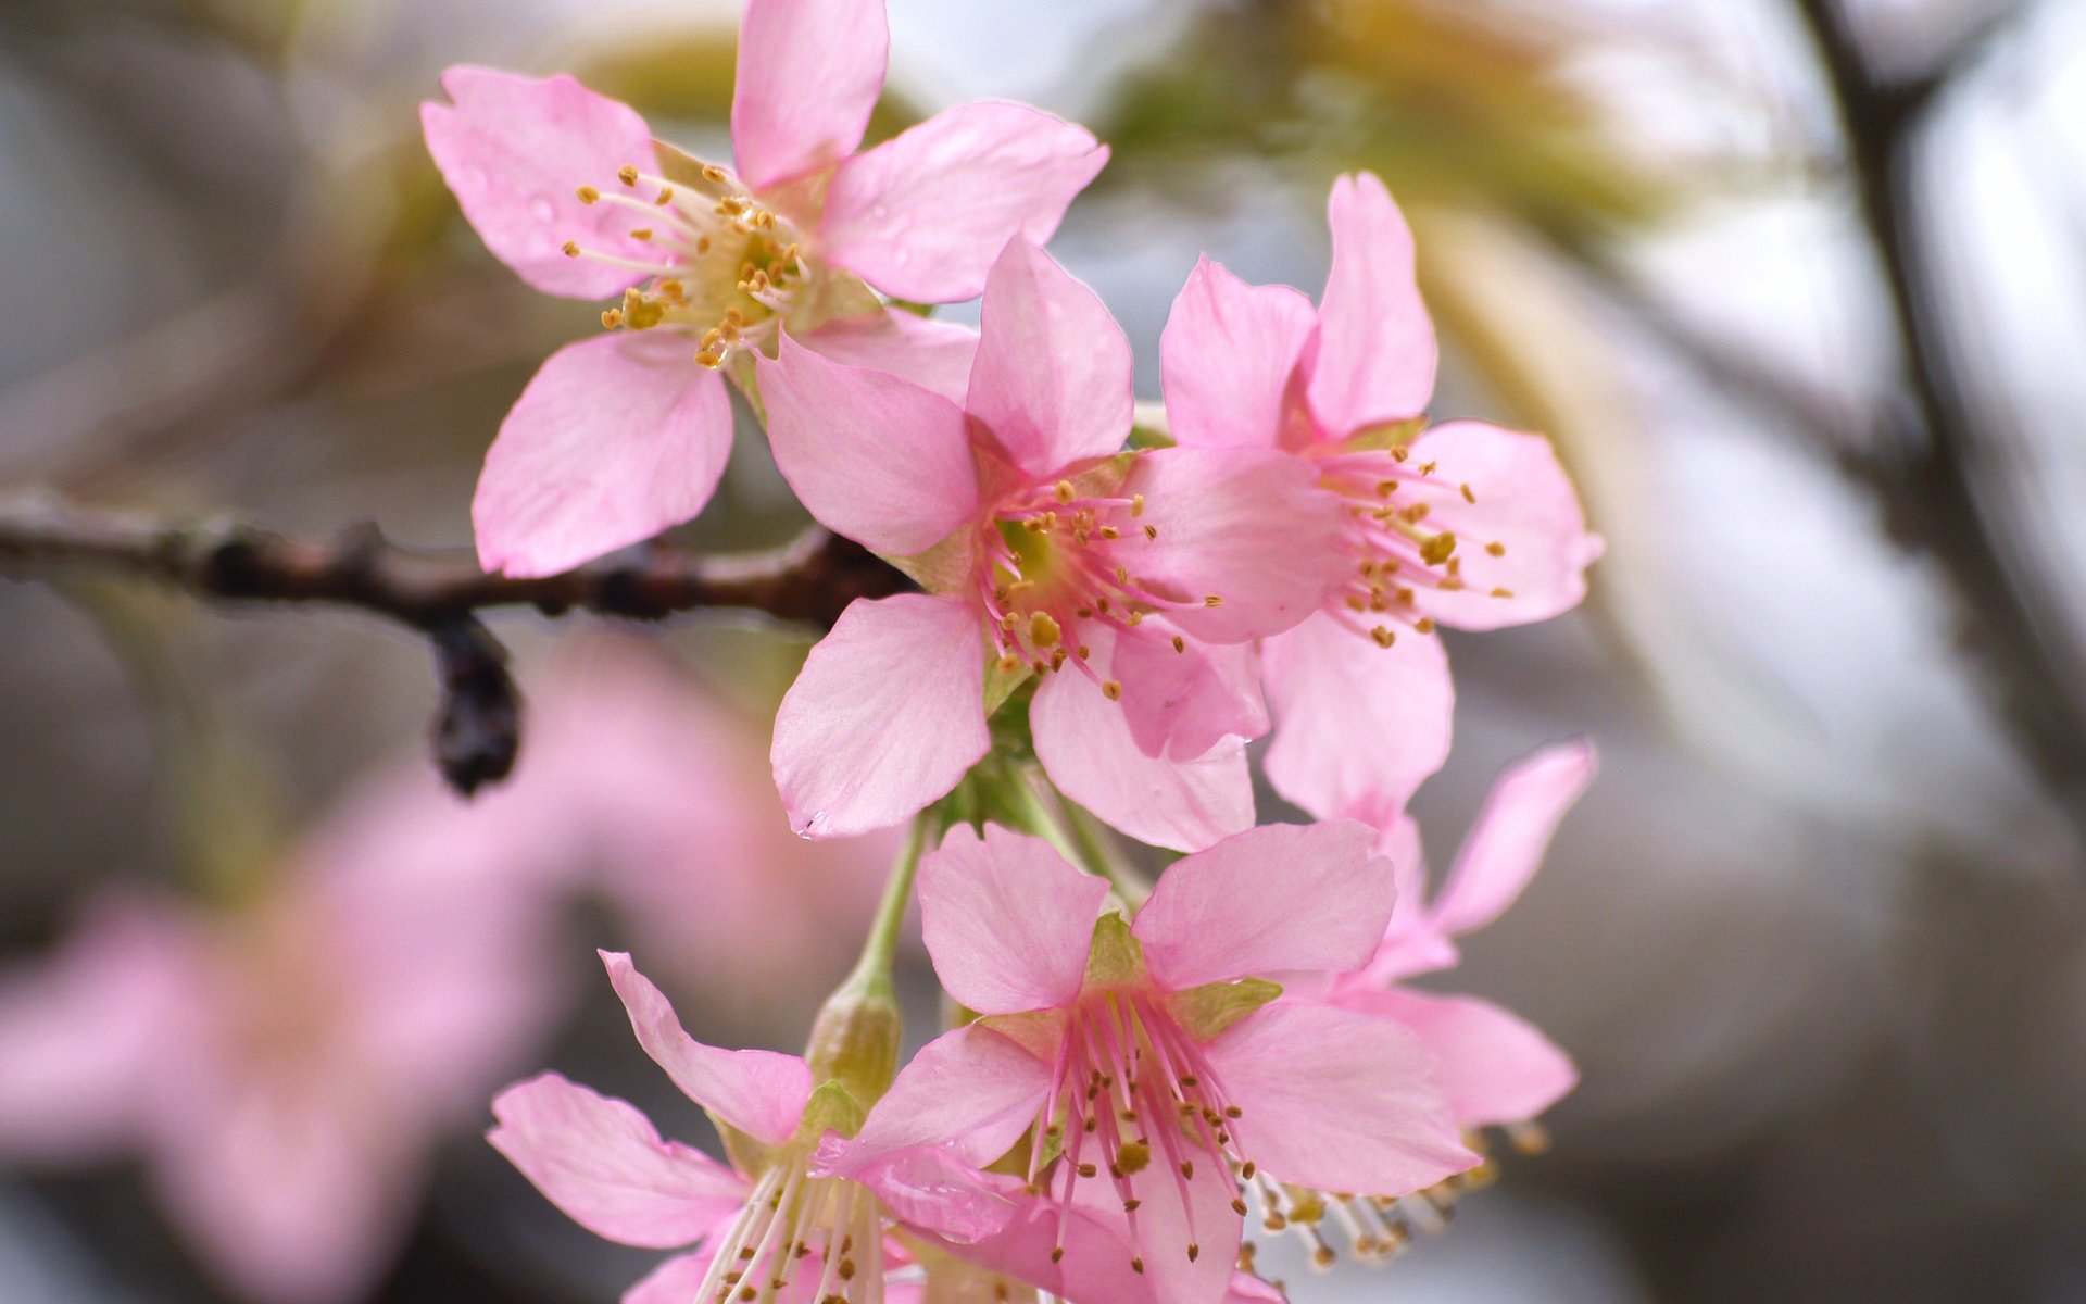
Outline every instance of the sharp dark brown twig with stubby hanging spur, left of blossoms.
<svg viewBox="0 0 2086 1304"><path fill-rule="evenodd" d="M350 607L426 634L442 684L434 757L465 795L505 778L522 743L507 651L480 624L480 611L536 607L544 615L659 620L730 607L828 628L857 597L909 588L876 555L824 530L743 557L699 557L655 542L634 559L519 580L488 576L467 555L401 549L375 526L321 542L244 524L150 522L52 499L0 503L0 574L81 570L131 574L221 603Z"/></svg>

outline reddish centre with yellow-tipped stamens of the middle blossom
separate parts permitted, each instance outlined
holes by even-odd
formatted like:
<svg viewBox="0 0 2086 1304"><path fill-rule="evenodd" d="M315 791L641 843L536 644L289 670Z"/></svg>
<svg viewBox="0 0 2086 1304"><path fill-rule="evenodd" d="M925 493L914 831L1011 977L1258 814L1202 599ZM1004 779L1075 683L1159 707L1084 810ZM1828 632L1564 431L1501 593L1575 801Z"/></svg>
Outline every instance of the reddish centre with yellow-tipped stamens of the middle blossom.
<svg viewBox="0 0 2086 1304"><path fill-rule="evenodd" d="M1072 666L1118 699L1122 684L1089 666L1095 626L1116 636L1166 638L1177 653L1187 651L1179 632L1164 622L1147 626L1147 618L1222 599L1172 593L1137 574L1139 549L1160 536L1143 515L1143 494L1081 488L1072 480L1028 488L993 511L976 586L1001 672L1026 666L1041 676Z"/></svg>

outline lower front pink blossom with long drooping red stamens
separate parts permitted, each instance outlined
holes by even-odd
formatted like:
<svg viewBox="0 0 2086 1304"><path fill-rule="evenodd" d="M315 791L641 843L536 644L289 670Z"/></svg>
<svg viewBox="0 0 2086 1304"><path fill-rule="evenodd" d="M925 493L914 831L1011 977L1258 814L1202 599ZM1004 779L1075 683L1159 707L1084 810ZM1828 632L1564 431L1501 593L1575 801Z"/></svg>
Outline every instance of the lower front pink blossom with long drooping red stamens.
<svg viewBox="0 0 2086 1304"><path fill-rule="evenodd" d="M914 1058L857 1148L949 1137L983 1164L1030 1135L1026 1177L1056 1216L999 1235L1085 1269L1068 1233L1114 1212L1166 1304L1224 1296L1247 1193L1396 1198L1471 1168L1418 1039L1260 976L1371 953L1391 912L1373 839L1260 826L1177 862L1126 920L1047 843L955 828L920 866L920 910L943 987L983 1018Z"/></svg>

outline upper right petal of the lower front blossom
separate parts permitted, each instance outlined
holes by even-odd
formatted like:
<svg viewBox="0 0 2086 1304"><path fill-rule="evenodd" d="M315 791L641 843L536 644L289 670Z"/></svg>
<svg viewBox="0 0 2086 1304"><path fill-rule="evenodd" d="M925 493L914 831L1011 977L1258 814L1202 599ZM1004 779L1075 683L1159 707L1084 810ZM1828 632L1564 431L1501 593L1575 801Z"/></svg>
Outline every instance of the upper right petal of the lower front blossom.
<svg viewBox="0 0 2086 1304"><path fill-rule="evenodd" d="M1262 824L1160 874L1133 933L1162 987L1360 968L1391 918L1391 862L1354 820Z"/></svg>

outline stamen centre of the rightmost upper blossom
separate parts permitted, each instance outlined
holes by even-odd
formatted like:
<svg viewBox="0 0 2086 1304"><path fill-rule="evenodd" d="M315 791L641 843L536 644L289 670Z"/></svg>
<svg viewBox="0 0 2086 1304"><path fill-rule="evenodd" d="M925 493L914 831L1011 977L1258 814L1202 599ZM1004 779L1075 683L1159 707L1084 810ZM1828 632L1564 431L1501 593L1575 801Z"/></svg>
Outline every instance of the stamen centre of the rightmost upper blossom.
<svg viewBox="0 0 2086 1304"><path fill-rule="evenodd" d="M1429 524L1433 509L1412 494L1412 486L1446 488L1473 505L1477 490L1471 484L1448 484L1435 463L1412 461L1406 446L1325 455L1318 459L1318 484L1345 501L1345 538L1356 555L1354 576L1327 609L1379 647L1398 641L1393 626L1433 632L1435 622L1423 609L1423 595L1471 588L1464 557L1473 547L1491 559L1506 555L1504 542L1464 540ZM1491 588L1489 595L1502 601L1514 597L1508 588Z"/></svg>

